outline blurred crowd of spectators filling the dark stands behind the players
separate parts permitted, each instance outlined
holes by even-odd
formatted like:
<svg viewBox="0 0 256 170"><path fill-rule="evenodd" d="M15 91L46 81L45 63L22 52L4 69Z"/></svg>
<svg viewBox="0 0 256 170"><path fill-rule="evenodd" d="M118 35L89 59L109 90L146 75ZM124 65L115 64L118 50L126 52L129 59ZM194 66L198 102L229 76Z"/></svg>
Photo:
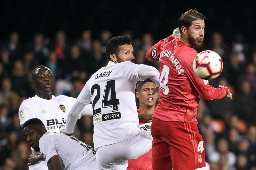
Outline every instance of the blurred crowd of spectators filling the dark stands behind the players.
<svg viewBox="0 0 256 170"><path fill-rule="evenodd" d="M130 31L122 35L133 37ZM77 97L92 73L108 63L106 43L113 36L108 30L92 38L85 30L80 39L70 41L62 30L54 39L36 33L33 41L22 41L12 32L0 44L0 169L28 169L29 144L24 140L18 109L23 100L36 95L31 87L31 72L39 65L52 70L55 81L53 95ZM166 35L167 37L167 35ZM197 50L213 50L224 62L221 75L210 84L228 87L233 99L200 100L197 120L205 142L206 161L212 170L256 170L256 50L237 34L234 42L225 42L218 32ZM165 37L163 37L165 38ZM132 38L137 64L159 68L146 59L147 50L157 41L145 33ZM137 102L138 103L138 102ZM76 137L93 146L93 124L83 116L76 124Z"/></svg>

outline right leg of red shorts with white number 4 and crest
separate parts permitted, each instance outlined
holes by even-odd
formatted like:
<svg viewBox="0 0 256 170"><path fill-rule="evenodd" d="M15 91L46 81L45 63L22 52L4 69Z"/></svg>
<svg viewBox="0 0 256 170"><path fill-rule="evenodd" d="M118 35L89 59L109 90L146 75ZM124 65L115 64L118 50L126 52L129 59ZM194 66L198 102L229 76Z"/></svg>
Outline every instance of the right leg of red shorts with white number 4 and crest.
<svg viewBox="0 0 256 170"><path fill-rule="evenodd" d="M197 125L172 122L170 145L173 170L195 170L205 166L204 142Z"/></svg>

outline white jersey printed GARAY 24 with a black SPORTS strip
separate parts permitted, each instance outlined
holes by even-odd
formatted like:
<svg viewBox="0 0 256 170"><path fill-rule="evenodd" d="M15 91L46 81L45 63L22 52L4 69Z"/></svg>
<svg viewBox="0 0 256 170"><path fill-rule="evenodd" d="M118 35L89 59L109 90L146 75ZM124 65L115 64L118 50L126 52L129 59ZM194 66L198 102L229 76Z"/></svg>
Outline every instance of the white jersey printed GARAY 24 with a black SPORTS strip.
<svg viewBox="0 0 256 170"><path fill-rule="evenodd" d="M143 65L108 62L86 82L77 101L92 100L94 148L127 140L140 132L135 103L138 72ZM143 80L145 80L144 78Z"/></svg>

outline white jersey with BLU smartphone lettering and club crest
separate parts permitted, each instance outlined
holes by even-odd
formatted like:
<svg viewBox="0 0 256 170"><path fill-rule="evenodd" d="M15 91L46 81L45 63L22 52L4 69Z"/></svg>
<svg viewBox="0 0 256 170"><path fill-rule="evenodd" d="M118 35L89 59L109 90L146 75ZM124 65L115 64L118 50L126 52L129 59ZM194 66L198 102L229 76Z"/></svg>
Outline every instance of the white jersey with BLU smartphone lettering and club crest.
<svg viewBox="0 0 256 170"><path fill-rule="evenodd" d="M75 102L76 98L64 95L52 95L50 100L38 96L28 98L20 105L20 126L29 119L38 118L44 123L47 131L59 133L66 127L68 112ZM92 105L86 105L82 112L83 115L92 115Z"/></svg>

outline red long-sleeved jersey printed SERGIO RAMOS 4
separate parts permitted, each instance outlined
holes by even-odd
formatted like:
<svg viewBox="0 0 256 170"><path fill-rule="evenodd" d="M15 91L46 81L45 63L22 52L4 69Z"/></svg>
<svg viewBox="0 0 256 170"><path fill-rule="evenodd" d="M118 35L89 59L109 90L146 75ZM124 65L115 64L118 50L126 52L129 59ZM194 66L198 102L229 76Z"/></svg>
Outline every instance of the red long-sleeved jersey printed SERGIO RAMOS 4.
<svg viewBox="0 0 256 170"><path fill-rule="evenodd" d="M205 100L228 95L228 89L214 88L194 73L193 59L197 54L194 48L173 36L159 41L148 50L147 59L160 62L160 99L154 117L197 124L199 95Z"/></svg>

